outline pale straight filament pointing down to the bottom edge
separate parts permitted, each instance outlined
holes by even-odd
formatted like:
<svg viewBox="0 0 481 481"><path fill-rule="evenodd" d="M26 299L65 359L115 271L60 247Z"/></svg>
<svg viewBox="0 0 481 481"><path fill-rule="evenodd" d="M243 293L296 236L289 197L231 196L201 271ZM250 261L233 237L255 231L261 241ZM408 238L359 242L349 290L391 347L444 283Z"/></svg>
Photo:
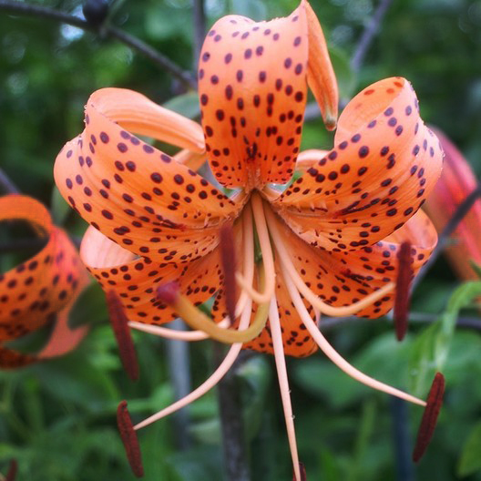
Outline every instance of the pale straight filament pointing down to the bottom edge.
<svg viewBox="0 0 481 481"><path fill-rule="evenodd" d="M281 400L287 428L287 437L289 439L289 446L291 448L292 466L294 468L295 476L294 481L301 481L299 455L297 453L297 443L294 428L294 416L292 415L291 394L289 389L289 380L287 378L284 346L282 343L281 322L279 320L279 312L277 310L277 300L275 296L273 296L271 299L269 322L271 324L272 345L274 350L277 377L279 379L279 387L281 389Z"/></svg>

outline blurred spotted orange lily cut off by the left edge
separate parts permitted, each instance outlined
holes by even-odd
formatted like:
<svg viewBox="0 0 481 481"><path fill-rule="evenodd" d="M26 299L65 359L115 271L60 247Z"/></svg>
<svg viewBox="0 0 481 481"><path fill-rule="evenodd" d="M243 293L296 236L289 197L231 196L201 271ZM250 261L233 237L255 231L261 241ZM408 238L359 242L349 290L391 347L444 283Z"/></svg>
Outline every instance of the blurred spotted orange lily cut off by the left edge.
<svg viewBox="0 0 481 481"><path fill-rule="evenodd" d="M0 274L0 343L18 339L55 322L45 347L36 354L19 353L0 345L0 367L16 368L74 349L85 327L71 330L68 312L87 286L88 276L77 250L57 228L46 208L22 195L0 198L0 220L24 220L46 240L34 257Z"/></svg>

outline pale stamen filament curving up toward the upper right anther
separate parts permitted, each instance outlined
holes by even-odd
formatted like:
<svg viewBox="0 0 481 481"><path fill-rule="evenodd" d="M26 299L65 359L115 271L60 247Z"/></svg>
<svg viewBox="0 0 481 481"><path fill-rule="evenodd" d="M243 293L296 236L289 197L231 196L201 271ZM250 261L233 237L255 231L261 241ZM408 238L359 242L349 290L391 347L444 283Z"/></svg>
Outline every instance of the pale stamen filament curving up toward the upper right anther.
<svg viewBox="0 0 481 481"><path fill-rule="evenodd" d="M353 302L349 306L340 306L334 307L332 305L327 304L326 302L322 302L322 300L314 294L314 292L309 289L309 287L305 284L302 280L301 275L298 271L296 271L292 260L291 255L287 248L285 247L284 241L282 241L281 232L277 227L277 221L274 218L273 212L270 210L266 210L266 219L269 224L269 231L271 232L272 240L274 241L276 251L279 253L279 258L281 261L282 267L288 272L288 275L292 279L295 287L302 293L302 295L312 304L314 309L317 309L322 314L326 314L329 316L349 316L356 314L357 312L362 311L364 308L369 307L374 302L379 301L382 299L386 294L393 291L394 289L394 282L388 282L382 288L378 289L371 294L366 295L363 297L362 300L358 302Z"/></svg>

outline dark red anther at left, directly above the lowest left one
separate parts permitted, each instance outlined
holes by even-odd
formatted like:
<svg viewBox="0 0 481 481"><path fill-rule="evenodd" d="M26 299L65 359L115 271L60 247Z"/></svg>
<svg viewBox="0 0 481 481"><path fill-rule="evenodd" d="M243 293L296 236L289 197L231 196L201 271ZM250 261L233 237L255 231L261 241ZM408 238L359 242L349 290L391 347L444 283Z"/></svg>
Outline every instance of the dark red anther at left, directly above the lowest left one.
<svg viewBox="0 0 481 481"><path fill-rule="evenodd" d="M115 291L106 293L108 317L114 331L120 360L128 377L132 381L138 379L138 361L132 335L128 328L128 317L124 312L124 307Z"/></svg>

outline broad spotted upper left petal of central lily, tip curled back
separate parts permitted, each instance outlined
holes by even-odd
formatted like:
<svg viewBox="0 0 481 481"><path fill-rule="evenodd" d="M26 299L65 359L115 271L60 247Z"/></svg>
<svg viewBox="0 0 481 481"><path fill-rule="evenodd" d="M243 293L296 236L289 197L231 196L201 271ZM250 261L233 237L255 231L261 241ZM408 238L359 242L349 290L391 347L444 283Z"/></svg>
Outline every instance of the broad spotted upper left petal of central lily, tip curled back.
<svg viewBox="0 0 481 481"><path fill-rule="evenodd" d="M219 226L237 215L241 203L121 127L157 135L155 122L175 120L157 107L117 89L90 97L84 132L56 159L56 184L87 222L119 245L156 261L189 261L217 245ZM191 127L179 144L186 144Z"/></svg>

